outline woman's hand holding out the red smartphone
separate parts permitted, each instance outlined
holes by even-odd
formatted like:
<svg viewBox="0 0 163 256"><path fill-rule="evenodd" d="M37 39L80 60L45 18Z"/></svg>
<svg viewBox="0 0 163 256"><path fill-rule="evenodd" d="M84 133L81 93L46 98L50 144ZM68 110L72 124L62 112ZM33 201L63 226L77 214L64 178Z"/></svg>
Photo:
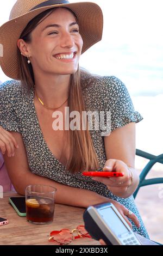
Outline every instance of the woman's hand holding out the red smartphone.
<svg viewBox="0 0 163 256"><path fill-rule="evenodd" d="M104 172L121 172L124 176L117 178L105 178L105 177L93 177L93 180L102 182L105 184L112 193L126 192L128 187L131 185L131 170L129 170L126 163L121 160L109 159L105 162L103 168Z"/></svg>

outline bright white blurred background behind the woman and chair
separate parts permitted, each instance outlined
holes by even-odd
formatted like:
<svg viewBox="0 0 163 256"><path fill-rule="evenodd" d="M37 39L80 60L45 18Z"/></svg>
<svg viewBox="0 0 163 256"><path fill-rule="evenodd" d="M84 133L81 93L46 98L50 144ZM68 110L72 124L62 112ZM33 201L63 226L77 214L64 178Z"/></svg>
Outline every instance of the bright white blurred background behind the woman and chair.
<svg viewBox="0 0 163 256"><path fill-rule="evenodd" d="M0 26L8 21L15 0L1 1ZM70 2L86 2L70 0ZM136 148L163 153L163 15L161 0L90 0L103 10L103 39L80 58L93 74L114 75L129 90L135 110L143 116L136 124ZM0 68L0 81L10 80ZM136 157L141 169L147 160ZM147 178L163 176L155 164ZM141 188L136 204L151 239L163 243L163 185Z"/></svg>

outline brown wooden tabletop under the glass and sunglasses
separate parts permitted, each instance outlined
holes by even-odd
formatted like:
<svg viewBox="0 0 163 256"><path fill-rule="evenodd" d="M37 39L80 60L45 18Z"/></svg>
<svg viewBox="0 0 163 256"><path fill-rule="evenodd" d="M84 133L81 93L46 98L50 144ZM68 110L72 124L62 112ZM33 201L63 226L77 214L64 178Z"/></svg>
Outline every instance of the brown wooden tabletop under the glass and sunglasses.
<svg viewBox="0 0 163 256"><path fill-rule="evenodd" d="M0 245L53 245L48 241L52 230L68 228L70 230L83 225L84 208L55 204L54 221L51 224L36 225L20 217L9 204L9 197L19 196L15 192L4 193L0 199L0 217L8 218L9 224L0 227ZM139 236L144 245L155 245L152 241ZM74 240L71 245L100 245L90 238Z"/></svg>

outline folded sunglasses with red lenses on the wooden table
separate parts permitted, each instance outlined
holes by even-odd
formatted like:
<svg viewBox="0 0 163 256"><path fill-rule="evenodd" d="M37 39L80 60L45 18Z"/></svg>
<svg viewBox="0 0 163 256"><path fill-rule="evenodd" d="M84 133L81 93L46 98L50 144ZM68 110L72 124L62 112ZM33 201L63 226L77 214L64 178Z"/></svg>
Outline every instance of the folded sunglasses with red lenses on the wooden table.
<svg viewBox="0 0 163 256"><path fill-rule="evenodd" d="M75 235L76 234L76 235ZM55 242L55 245L68 245L74 239L82 238L82 237L89 237L92 238L89 233L87 233L84 225L78 225L77 228L70 230L70 229L61 229L52 231L50 233L49 241Z"/></svg>

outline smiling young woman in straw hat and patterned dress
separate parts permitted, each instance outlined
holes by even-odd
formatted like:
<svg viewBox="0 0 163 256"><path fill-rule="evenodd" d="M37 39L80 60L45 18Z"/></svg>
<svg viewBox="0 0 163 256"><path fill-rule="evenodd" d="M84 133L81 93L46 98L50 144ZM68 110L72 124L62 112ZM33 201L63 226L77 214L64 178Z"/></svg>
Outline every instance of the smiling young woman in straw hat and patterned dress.
<svg viewBox="0 0 163 256"><path fill-rule="evenodd" d="M134 231L148 237L132 196L139 184L135 123L142 117L118 78L79 69L80 55L101 40L102 28L102 11L94 3L16 2L0 28L0 63L14 79L0 88L0 147L18 193L29 184L46 184L57 188L57 203L112 202ZM73 111L79 113L75 122ZM100 113L111 113L110 135L89 129L88 120L83 129L82 114L94 111L94 123ZM64 129L57 130L57 123ZM92 179L84 170L124 176Z"/></svg>

